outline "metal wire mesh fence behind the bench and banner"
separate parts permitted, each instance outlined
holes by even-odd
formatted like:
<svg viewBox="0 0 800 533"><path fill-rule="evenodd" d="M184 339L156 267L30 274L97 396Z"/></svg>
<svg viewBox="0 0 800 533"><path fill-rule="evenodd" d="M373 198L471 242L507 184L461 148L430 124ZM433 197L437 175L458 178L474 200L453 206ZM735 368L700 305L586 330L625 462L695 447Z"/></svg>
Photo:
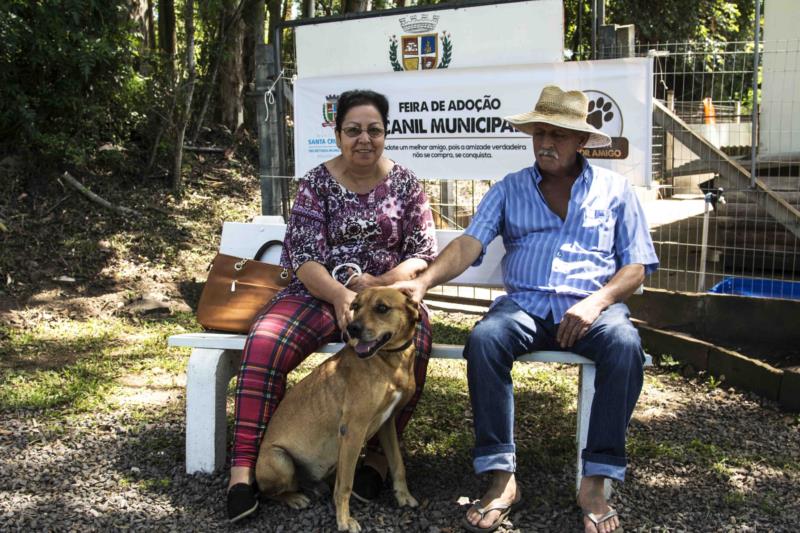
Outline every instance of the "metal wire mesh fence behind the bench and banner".
<svg viewBox="0 0 800 533"><path fill-rule="evenodd" d="M703 42L638 45L633 54L654 62L655 185L640 197L661 266L646 286L800 298L800 39L765 41L758 53L752 42ZM281 68L286 78L294 72L291 60ZM437 227L466 227L501 176L487 178L424 180ZM284 206L294 190L283 188Z"/></svg>

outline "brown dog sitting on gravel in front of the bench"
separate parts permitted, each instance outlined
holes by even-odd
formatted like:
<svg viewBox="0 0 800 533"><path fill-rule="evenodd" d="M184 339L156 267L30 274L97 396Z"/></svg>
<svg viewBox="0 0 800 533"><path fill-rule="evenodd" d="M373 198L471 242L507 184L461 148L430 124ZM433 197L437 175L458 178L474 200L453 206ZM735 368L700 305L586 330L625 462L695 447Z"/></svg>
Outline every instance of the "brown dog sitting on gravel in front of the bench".
<svg viewBox="0 0 800 533"><path fill-rule="evenodd" d="M395 429L395 414L414 393L419 310L395 289L361 292L351 307L348 346L289 389L267 427L256 464L262 493L302 509L309 499L301 483L336 470L334 503L339 531L357 532L350 516L356 462L378 433L401 506L417 506L408 492Z"/></svg>

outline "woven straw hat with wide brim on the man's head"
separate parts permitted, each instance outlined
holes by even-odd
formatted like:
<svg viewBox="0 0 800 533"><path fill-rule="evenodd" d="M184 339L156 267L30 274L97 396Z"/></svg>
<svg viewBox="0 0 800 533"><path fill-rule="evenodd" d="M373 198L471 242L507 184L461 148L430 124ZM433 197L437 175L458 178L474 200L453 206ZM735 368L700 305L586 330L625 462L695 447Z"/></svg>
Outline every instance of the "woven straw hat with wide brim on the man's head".
<svg viewBox="0 0 800 533"><path fill-rule="evenodd" d="M573 131L589 133L586 148L600 148L611 144L611 137L598 130L588 122L589 99L581 91L562 91L555 85L542 89L539 101L533 111L504 117L515 128L528 135L533 135L533 124L540 122L566 128Z"/></svg>

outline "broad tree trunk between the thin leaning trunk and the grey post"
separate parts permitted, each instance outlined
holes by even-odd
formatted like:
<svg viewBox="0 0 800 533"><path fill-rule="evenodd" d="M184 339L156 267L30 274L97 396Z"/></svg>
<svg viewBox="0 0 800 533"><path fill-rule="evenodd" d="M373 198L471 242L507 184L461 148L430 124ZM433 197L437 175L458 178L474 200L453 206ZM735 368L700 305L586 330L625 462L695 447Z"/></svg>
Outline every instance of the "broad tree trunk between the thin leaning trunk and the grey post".
<svg viewBox="0 0 800 533"><path fill-rule="evenodd" d="M244 121L242 50L245 25L241 17L235 16L236 4L230 1L226 2L225 11L225 19L231 24L223 35L225 44L220 64L219 114L220 122L231 131L236 131Z"/></svg>

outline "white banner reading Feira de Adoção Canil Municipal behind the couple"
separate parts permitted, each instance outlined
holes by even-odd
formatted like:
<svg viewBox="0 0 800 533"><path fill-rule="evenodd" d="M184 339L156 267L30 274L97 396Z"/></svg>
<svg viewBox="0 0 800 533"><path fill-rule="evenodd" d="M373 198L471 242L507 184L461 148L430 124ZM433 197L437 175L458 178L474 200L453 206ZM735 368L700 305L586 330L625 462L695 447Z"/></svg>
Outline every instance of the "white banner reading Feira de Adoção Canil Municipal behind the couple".
<svg viewBox="0 0 800 533"><path fill-rule="evenodd" d="M584 91L587 122L613 140L584 155L634 185L649 185L652 79L648 58L301 78L294 87L295 174L339 154L338 95L372 89L389 99L386 157L422 179L500 179L534 162L530 136L503 117L530 111L542 88L555 84Z"/></svg>

